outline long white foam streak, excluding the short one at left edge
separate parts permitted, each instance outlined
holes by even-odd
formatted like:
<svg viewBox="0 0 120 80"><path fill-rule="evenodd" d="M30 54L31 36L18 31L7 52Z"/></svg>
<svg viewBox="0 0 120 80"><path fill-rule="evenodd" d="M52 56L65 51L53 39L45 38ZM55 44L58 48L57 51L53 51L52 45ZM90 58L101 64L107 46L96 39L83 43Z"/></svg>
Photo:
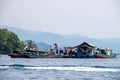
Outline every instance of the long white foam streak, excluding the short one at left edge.
<svg viewBox="0 0 120 80"><path fill-rule="evenodd" d="M24 67L25 69L36 70L68 70L68 71L91 71L91 72L120 72L120 69L93 68L93 67Z"/></svg>

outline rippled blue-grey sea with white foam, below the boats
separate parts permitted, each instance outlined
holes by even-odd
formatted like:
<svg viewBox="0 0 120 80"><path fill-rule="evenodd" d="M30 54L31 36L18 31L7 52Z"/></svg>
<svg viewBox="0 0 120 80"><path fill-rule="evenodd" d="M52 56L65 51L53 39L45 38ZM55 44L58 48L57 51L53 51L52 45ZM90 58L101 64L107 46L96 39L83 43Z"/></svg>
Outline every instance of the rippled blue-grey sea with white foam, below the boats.
<svg viewBox="0 0 120 80"><path fill-rule="evenodd" d="M120 56L28 59L0 55L0 80L120 80Z"/></svg>

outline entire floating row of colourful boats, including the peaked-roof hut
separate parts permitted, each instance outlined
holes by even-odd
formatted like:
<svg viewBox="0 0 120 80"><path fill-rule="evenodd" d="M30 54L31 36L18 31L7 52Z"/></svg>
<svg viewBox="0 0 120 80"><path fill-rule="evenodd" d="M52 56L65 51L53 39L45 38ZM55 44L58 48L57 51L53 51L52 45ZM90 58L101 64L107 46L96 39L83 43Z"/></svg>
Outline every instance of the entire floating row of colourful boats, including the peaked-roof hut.
<svg viewBox="0 0 120 80"><path fill-rule="evenodd" d="M109 49L100 49L89 43L83 42L75 47L64 47L64 51L58 52L57 44L55 44L56 51L36 51L25 50L22 52L15 51L8 56L12 58L115 58L116 54Z"/></svg>

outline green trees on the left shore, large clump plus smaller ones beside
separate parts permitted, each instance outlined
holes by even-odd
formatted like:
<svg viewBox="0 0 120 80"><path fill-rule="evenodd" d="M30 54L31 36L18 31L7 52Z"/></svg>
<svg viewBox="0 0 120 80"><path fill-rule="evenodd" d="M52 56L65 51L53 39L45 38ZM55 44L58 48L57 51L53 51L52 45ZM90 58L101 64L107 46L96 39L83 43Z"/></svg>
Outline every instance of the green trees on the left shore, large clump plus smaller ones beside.
<svg viewBox="0 0 120 80"><path fill-rule="evenodd" d="M10 53L12 51L24 50L25 45L29 48L36 48L37 45L32 40L20 41L17 34L8 31L6 28L0 29L0 53Z"/></svg>

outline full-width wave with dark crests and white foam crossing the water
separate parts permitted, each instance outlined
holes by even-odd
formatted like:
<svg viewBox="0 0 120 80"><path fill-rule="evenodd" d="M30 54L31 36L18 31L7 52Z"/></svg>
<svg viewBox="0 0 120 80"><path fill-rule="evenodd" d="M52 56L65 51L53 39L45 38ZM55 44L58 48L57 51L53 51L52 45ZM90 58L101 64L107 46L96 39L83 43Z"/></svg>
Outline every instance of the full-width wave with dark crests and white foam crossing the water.
<svg viewBox="0 0 120 80"><path fill-rule="evenodd" d="M29 66L21 64L0 65L0 69L27 69L27 70L63 70L63 71L86 71L86 72L120 72L120 68L106 67L82 67L82 66Z"/></svg>

